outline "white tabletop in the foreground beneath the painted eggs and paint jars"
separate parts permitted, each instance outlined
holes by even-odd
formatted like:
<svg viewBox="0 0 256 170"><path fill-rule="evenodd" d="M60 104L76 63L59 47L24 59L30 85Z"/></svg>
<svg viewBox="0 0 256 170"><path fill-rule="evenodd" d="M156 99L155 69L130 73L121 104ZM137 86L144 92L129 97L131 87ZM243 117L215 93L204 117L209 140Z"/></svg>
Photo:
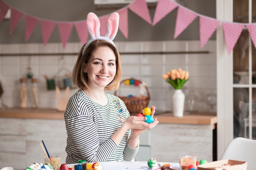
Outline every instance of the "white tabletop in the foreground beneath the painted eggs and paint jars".
<svg viewBox="0 0 256 170"><path fill-rule="evenodd" d="M158 162L161 165L164 163L170 162ZM74 168L75 164L67 164L69 168ZM171 167L174 170L181 170L179 163L170 163ZM104 170L159 170L160 166L157 165L154 168L149 168L146 161L123 161L123 162L102 162L101 165L103 166Z"/></svg>

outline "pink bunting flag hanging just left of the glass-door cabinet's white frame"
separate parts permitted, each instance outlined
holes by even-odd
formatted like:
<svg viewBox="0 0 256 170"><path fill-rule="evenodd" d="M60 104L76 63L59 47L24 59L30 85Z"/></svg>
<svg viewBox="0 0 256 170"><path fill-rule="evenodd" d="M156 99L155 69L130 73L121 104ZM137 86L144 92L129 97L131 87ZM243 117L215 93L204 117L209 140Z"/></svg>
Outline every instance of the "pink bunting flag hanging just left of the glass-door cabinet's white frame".
<svg viewBox="0 0 256 170"><path fill-rule="evenodd" d="M204 45L207 43L207 41L210 39L211 35L217 29L220 22L215 19L204 17L204 16L199 17L199 22L200 22L200 42L201 42L201 48L203 48Z"/></svg>

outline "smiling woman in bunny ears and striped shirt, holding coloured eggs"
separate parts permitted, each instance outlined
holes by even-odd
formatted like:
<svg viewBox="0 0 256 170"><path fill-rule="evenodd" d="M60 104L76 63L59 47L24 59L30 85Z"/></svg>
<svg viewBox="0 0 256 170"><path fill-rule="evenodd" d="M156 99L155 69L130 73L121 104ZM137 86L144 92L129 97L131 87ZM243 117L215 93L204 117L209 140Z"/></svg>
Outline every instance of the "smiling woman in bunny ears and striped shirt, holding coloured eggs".
<svg viewBox="0 0 256 170"><path fill-rule="evenodd" d="M90 24L89 17L95 19L96 16L89 14L87 24ZM112 16L112 20L116 22L117 18ZM115 29L113 25L109 27ZM119 87L120 55L112 39L95 36L97 33L92 33L93 30L89 32L92 39L81 48L72 73L72 80L80 89L70 98L64 113L66 163L78 163L80 159L87 162L131 161L139 149L139 135L155 127L158 121L155 119L148 124L144 122L145 117L130 116L120 98L105 92ZM153 116L155 107L151 109Z"/></svg>

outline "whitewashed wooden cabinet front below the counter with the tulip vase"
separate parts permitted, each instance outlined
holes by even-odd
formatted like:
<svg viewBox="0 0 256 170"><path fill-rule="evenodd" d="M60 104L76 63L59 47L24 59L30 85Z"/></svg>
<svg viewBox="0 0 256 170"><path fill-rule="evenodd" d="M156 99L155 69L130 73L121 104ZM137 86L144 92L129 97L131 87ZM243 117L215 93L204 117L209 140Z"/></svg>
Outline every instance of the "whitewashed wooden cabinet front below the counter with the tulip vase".
<svg viewBox="0 0 256 170"><path fill-rule="evenodd" d="M151 129L151 157L157 161L179 162L182 155L213 161L211 124L165 124Z"/></svg>

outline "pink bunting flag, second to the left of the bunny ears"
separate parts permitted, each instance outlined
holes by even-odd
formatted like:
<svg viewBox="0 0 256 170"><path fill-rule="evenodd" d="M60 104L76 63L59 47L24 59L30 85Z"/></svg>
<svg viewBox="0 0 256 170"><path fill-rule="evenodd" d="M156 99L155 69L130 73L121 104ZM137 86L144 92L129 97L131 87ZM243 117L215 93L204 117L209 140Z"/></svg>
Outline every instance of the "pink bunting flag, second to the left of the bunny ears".
<svg viewBox="0 0 256 170"><path fill-rule="evenodd" d="M61 42L63 48L66 47L67 41L70 37L70 33L72 31L73 23L72 22L59 22L58 23L58 30L61 36Z"/></svg>

